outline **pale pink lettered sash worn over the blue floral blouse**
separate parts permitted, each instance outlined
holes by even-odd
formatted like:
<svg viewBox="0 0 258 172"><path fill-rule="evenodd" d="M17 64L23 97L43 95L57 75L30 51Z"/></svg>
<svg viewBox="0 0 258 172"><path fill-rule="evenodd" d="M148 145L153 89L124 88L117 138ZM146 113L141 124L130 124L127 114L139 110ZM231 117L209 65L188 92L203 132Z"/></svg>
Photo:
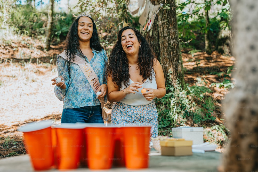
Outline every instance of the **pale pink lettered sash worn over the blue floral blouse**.
<svg viewBox="0 0 258 172"><path fill-rule="evenodd" d="M63 51L59 55L62 58L66 59L66 50ZM67 61L69 61L69 60L67 60ZM99 88L100 83L99 83L99 79L98 79L96 73L94 72L94 70L92 69L91 65L89 63L87 63L85 60L83 60L82 58L80 58L78 55L75 55L74 61L71 61L71 62L79 65L83 74L85 75L88 82L90 83L94 93L96 94L96 92L97 92L96 90ZM99 101L100 101L101 109L102 109L102 118L103 118L103 120L107 121L109 117L108 117L106 111L103 109L104 104L105 104L104 98L99 99Z"/></svg>

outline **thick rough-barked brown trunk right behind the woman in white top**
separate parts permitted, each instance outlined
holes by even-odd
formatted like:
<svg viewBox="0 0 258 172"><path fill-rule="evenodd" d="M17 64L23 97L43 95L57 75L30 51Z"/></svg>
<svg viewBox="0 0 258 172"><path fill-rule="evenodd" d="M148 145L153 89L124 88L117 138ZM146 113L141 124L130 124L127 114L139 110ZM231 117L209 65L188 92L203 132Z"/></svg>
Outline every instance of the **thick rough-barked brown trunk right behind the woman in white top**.
<svg viewBox="0 0 258 172"><path fill-rule="evenodd" d="M158 13L160 63L166 83L185 87L183 63L179 46L178 25L176 19L176 2L167 0ZM169 5L169 8L167 6Z"/></svg>

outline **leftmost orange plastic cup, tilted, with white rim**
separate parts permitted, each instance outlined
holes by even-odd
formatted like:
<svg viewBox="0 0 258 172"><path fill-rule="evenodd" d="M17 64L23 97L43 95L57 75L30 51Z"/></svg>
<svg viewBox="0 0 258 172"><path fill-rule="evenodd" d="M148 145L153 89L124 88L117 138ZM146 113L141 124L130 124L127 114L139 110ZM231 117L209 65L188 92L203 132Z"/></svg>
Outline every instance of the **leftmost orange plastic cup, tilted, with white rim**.
<svg viewBox="0 0 258 172"><path fill-rule="evenodd" d="M20 127L23 132L26 151L34 170L48 170L54 165L54 154L51 139L53 121L31 122Z"/></svg>

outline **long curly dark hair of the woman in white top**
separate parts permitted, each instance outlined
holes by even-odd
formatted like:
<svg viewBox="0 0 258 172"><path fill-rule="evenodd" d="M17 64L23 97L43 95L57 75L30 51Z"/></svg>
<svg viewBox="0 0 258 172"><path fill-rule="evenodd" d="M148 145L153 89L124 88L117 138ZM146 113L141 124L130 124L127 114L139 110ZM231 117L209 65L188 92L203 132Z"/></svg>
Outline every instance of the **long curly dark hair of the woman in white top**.
<svg viewBox="0 0 258 172"><path fill-rule="evenodd" d="M122 52L121 36L124 30L132 29L141 44L138 54L138 68L140 69L140 75L143 80L149 78L152 81L152 76L154 74L153 60L155 55L147 42L147 40L141 35L141 33L130 26L122 28L117 35L117 42L112 49L109 56L109 63L106 70L106 76L112 78L112 82L121 88L122 85L126 87L130 85L130 75L129 75L129 63L126 54ZM142 80L142 81L143 81Z"/></svg>

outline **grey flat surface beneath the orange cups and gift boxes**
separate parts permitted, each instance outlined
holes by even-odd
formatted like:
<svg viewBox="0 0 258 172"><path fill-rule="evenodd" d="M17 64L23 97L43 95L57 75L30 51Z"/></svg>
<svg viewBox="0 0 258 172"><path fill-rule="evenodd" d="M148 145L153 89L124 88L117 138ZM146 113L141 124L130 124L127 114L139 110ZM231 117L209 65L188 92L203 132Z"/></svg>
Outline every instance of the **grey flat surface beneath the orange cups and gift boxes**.
<svg viewBox="0 0 258 172"><path fill-rule="evenodd" d="M205 153L193 153L192 156L164 156L156 152L154 149L149 154L149 168L139 169L133 171L172 171L172 172L215 172L217 167L221 164L222 154L216 151ZM3 172L29 172L34 171L28 154L16 157L0 159L0 171ZM57 169L47 170L48 172L59 171ZM88 168L78 168L76 170L67 171L93 171ZM113 167L107 170L94 171L132 171L126 168Z"/></svg>

